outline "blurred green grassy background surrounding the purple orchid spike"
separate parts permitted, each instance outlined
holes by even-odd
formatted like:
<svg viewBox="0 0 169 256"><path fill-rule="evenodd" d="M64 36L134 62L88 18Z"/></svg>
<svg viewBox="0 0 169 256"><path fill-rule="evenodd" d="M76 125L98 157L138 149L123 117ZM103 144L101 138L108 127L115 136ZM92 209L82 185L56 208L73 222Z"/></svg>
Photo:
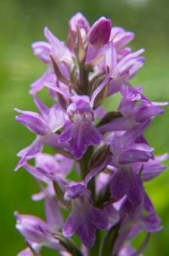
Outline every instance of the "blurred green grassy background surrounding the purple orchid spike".
<svg viewBox="0 0 169 256"><path fill-rule="evenodd" d="M169 100L169 1L168 0L5 0L0 3L0 255L13 256L25 247L15 230L14 211L43 216L43 203L31 201L38 189L23 169L14 172L15 155L35 137L14 120L14 108L35 110L29 84L38 79L45 66L31 53L31 43L44 40L43 27L61 40L67 39L68 23L81 11L91 24L101 15L136 33L134 50L145 48L146 63L132 82L144 85L152 101ZM47 91L45 91L46 93ZM169 109L157 117L147 138L155 154L169 152ZM169 165L169 161L166 161ZM164 229L154 234L144 255L164 256L169 252L169 173L146 184L162 218ZM57 255L44 250L42 255ZM106 256L106 255L105 255Z"/></svg>

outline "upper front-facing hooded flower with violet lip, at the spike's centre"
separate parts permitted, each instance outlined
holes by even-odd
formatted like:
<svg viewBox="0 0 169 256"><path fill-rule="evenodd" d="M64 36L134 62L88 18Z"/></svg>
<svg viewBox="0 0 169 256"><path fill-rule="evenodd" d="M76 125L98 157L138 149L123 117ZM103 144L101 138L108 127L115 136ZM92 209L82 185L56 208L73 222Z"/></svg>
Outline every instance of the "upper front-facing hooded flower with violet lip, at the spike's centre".
<svg viewBox="0 0 169 256"><path fill-rule="evenodd" d="M99 145L103 137L93 125L94 112L87 96L75 96L67 108L73 123L59 135L59 143L70 142L70 152L76 160L82 158L90 145Z"/></svg>

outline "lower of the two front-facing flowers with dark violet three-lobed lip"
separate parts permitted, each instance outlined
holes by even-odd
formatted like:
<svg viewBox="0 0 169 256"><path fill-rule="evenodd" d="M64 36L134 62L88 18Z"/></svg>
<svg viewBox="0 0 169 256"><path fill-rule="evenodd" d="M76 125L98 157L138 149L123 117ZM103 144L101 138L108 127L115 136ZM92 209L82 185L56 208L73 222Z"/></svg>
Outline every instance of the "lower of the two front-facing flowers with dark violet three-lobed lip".
<svg viewBox="0 0 169 256"><path fill-rule="evenodd" d="M66 189L65 201L71 202L72 210L62 228L64 236L72 236L76 232L85 246L93 247L96 230L108 227L105 212L93 207L91 192L82 184Z"/></svg>

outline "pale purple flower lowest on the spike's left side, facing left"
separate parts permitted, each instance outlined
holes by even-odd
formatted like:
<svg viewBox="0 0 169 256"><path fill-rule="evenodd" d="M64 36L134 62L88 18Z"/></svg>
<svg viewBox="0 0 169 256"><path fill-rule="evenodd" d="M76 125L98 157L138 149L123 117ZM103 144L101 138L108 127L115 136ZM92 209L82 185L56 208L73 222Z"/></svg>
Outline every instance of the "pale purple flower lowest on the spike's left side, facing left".
<svg viewBox="0 0 169 256"><path fill-rule="evenodd" d="M21 215L14 212L14 216L17 218L16 229L20 231L21 235L25 237L25 241L36 253L40 253L42 246L65 251L59 241L53 237L53 234L58 232L63 224L57 201L46 198L45 212L47 222L32 215ZM31 255L28 248L21 253L20 255L26 255L26 253Z"/></svg>

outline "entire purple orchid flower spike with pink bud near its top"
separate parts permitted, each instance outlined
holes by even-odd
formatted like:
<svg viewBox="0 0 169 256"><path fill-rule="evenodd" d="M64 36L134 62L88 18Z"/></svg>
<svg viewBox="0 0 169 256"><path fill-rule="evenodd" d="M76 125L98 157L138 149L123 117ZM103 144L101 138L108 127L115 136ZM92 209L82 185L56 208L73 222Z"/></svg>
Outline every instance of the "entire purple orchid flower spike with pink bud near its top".
<svg viewBox="0 0 169 256"><path fill-rule="evenodd" d="M22 166L37 180L40 191L32 200L45 202L46 220L14 212L27 244L18 255L37 255L42 247L60 255L138 255L149 234L161 230L144 182L166 169L161 161L168 155L155 156L144 131L167 102L150 102L142 86L132 86L144 49L132 52L127 44L133 32L111 20L101 17L90 26L77 13L69 21L67 46L47 27L44 36L48 42L32 44L47 65L31 84L38 113L15 109L17 122L36 137L18 153L15 170ZM37 97L43 89L50 107ZM111 109L116 95L119 106ZM54 154L44 153L46 146ZM136 249L131 241L142 231L147 235ZM70 238L75 234L81 246Z"/></svg>

